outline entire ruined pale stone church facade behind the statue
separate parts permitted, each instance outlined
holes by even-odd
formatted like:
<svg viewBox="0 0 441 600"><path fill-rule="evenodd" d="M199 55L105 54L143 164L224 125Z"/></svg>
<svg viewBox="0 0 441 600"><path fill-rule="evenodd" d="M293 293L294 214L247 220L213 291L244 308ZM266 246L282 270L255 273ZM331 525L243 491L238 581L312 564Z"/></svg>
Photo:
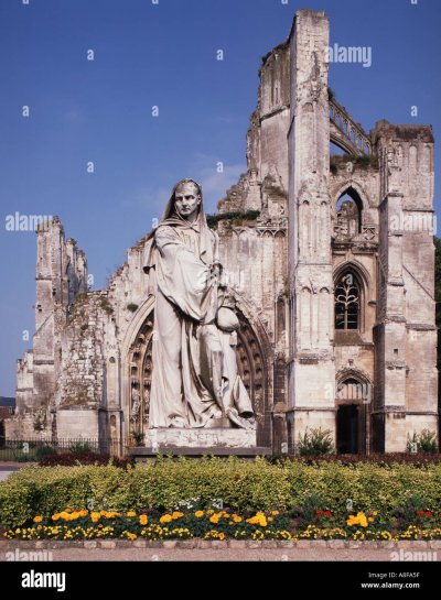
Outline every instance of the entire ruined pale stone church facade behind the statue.
<svg viewBox="0 0 441 600"><path fill-rule="evenodd" d="M212 219L241 324L239 373L259 447L292 450L322 427L342 452L404 451L408 434L438 435L433 137L387 121L367 134L330 94L327 45L327 18L300 11L265 57L248 170ZM36 331L8 436L122 448L149 427L144 247L89 292L60 221L37 232Z"/></svg>

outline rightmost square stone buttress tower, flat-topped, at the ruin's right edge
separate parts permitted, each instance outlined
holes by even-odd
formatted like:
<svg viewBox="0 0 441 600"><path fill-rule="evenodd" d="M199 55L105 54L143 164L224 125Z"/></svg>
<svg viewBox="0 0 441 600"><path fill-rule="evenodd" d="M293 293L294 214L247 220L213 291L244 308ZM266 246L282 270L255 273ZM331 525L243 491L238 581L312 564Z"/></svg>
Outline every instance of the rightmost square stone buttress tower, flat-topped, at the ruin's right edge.
<svg viewBox="0 0 441 600"><path fill-rule="evenodd" d="M434 326L433 137L430 128L380 121L381 167L378 384L386 451L438 432ZM383 392L383 393L381 393Z"/></svg>

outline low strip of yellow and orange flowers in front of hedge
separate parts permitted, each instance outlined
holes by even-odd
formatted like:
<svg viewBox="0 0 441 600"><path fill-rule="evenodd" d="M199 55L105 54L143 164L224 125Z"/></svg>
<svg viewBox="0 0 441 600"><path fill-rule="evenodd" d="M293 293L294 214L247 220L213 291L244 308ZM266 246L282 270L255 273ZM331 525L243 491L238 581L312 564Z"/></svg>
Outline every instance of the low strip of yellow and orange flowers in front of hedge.
<svg viewBox="0 0 441 600"><path fill-rule="evenodd" d="M342 519L331 511L318 511L325 520L322 526L309 524L297 528L295 519L279 511L239 515L229 510L194 512L173 511L159 514L155 511L137 514L135 511L89 512L66 509L51 517L36 515L22 527L3 533L7 539L87 541L87 539L352 539L361 541L431 541L441 539L441 527L422 528L416 525L405 531L385 530L377 520L377 512L349 514Z"/></svg>

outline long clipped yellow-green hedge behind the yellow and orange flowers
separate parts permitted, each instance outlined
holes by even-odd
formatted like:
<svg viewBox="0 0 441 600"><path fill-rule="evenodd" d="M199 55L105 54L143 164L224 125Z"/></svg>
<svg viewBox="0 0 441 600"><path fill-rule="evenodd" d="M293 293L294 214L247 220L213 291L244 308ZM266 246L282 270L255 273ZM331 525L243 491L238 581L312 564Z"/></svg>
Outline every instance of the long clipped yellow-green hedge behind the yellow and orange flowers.
<svg viewBox="0 0 441 600"><path fill-rule="evenodd" d="M0 523L23 525L36 514L50 516L66 508L141 511L176 508L196 499L197 508L222 499L237 511L289 510L311 495L323 508L347 512L376 510L379 519L419 495L437 519L441 517L441 465L379 466L359 462L306 465L297 460L269 465L230 458L159 459L127 470L114 467L25 467L0 483ZM183 506L183 504L181 504Z"/></svg>

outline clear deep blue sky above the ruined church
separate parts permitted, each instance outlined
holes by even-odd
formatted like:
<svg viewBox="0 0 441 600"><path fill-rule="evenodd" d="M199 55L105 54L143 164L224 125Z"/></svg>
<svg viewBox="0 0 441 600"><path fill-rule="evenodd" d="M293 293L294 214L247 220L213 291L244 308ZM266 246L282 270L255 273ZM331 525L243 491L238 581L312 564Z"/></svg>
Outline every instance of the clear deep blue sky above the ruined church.
<svg viewBox="0 0 441 600"><path fill-rule="evenodd" d="M178 179L202 181L213 212L246 168L260 58L300 8L327 12L332 43L372 46L370 68L331 65L330 80L366 130L431 123L439 140L439 0L1 0L1 222L58 215L99 288ZM0 395L13 395L34 326L35 234L2 225L0 255Z"/></svg>

